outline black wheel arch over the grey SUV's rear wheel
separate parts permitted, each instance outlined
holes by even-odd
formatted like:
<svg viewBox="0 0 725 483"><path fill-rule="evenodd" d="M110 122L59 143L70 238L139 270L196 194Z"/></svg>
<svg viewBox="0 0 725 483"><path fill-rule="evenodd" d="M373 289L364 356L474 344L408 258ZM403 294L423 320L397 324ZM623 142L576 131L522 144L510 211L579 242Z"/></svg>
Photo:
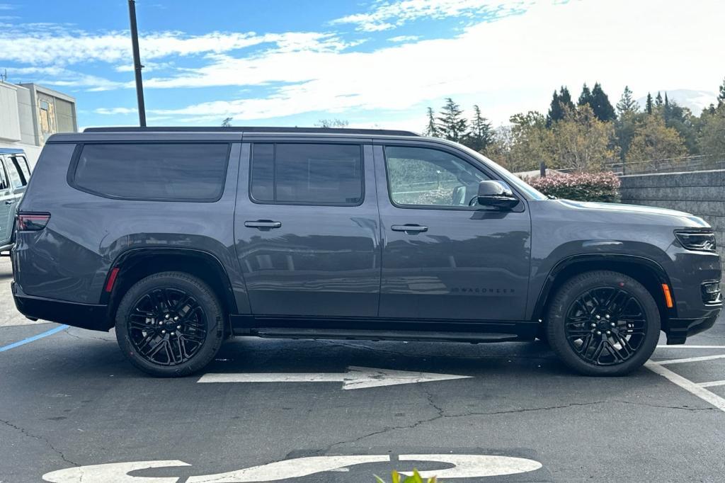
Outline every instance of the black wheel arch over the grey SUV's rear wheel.
<svg viewBox="0 0 725 483"><path fill-rule="evenodd" d="M104 291L101 303L108 305L109 329L115 323L116 310L123 295L133 284L154 273L178 271L196 276L217 294L227 319L225 330L229 328L229 315L237 312L236 300L231 281L224 265L215 255L204 250L176 247L147 247L128 249L116 257L107 275L118 269L111 292Z"/></svg>

